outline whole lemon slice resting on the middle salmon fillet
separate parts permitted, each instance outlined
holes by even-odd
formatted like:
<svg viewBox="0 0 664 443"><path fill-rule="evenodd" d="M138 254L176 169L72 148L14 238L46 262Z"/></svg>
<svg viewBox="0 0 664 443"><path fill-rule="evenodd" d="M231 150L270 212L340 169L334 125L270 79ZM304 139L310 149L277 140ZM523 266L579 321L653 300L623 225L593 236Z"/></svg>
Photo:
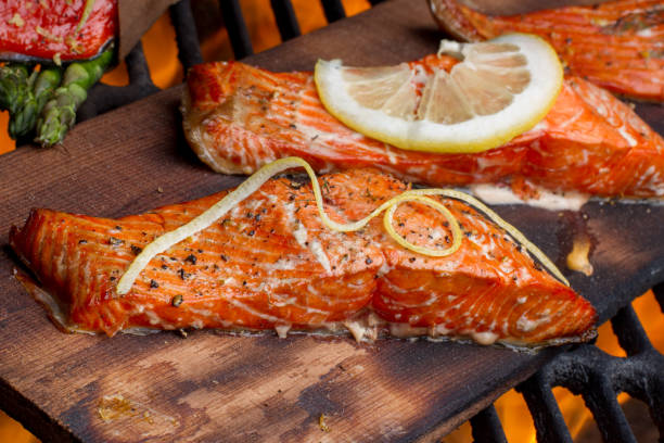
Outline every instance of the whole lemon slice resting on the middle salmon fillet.
<svg viewBox="0 0 664 443"><path fill-rule="evenodd" d="M319 60L320 100L350 128L395 147L470 153L497 148L534 127L562 87L556 51L536 36L443 40L440 53L461 62L447 73L417 63L348 67Z"/></svg>

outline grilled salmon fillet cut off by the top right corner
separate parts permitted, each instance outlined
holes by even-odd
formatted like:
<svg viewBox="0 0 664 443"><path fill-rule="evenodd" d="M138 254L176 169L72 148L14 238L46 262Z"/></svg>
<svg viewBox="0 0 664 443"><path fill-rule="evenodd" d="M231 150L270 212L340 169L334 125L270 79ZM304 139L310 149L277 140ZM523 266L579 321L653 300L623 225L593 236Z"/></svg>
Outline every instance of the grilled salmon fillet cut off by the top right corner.
<svg viewBox="0 0 664 443"><path fill-rule="evenodd" d="M664 3L617 0L511 16L485 15L458 0L429 0L438 25L478 41L520 31L546 38L570 73L612 92L664 101Z"/></svg>

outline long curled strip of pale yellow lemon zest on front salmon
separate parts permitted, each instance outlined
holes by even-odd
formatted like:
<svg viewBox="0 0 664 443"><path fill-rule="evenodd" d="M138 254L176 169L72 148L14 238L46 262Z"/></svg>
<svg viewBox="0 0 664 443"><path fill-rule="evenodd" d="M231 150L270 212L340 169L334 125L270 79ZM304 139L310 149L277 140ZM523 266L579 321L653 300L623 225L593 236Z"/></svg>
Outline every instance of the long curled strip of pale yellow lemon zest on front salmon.
<svg viewBox="0 0 664 443"><path fill-rule="evenodd" d="M173 245L181 242L190 238L191 236L206 229L210 225L213 225L216 220L226 215L231 208L234 208L244 201L247 197L256 192L267 180L269 180L272 176L283 173L284 170L304 167L311 180L311 188L314 191L314 197L316 199L316 205L318 207L319 216L328 228L340 231L340 232L352 232L359 230L367 226L367 224L384 212L383 216L383 227L387 231L387 233L401 246L429 256L442 257L451 255L461 246L461 241L463 235L461 232L461 228L459 227L459 221L451 214L451 212L443 205L438 200L434 200L431 197L446 197L455 200L460 200L476 210L480 210L491 219L496 225L506 230L512 238L519 241L527 251L529 251L533 255L539 260L539 262L547 268L549 271L562 281L564 284L570 286L565 277L561 274L561 271L556 267L556 265L541 252L535 244L531 243L516 228L514 228L509 223L505 221L498 214L496 214L493 210L486 206L481 201L475 198L468 195L463 192L454 190L454 189L411 189L400 193L399 195L393 197L387 200L379 207L373 210L371 214L366 216L365 218L348 223L348 224L340 224L332 220L324 211L323 201L322 201L322 192L320 189L320 185L318 183L318 178L311 165L309 165L306 161L301 157L285 157L272 162L260 169L258 169L254 175L248 177L245 181L243 181L235 190L226 194L220 201L212 205L208 210L206 210L203 214L194 217L189 223L180 226L179 228L166 232L165 235L155 239L152 243L148 244L143 251L133 260L133 262L129 265L123 277L120 278L117 288L116 288L116 296L124 295L131 290L133 282L138 278L139 274L143 270L145 266L150 263L150 261L157 254L161 254L171 248ZM399 235L394 229L393 217L399 204L405 202L417 201L423 203L434 210L437 210L448 221L449 228L451 230L452 244L451 246L445 250L438 249L430 249L419 246L417 244L410 243L407 241L401 235Z"/></svg>

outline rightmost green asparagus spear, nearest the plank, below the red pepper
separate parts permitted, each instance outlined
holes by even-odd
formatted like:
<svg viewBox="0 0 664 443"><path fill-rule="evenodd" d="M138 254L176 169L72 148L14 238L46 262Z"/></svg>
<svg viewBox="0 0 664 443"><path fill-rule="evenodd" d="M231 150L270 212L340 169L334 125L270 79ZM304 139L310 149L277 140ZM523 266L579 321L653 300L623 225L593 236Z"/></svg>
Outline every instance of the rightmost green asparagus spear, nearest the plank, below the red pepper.
<svg viewBox="0 0 664 443"><path fill-rule="evenodd" d="M88 98L88 90L99 81L112 60L113 48L94 60L67 66L61 87L55 89L37 122L36 142L42 147L62 142L67 130L74 126L76 111Z"/></svg>

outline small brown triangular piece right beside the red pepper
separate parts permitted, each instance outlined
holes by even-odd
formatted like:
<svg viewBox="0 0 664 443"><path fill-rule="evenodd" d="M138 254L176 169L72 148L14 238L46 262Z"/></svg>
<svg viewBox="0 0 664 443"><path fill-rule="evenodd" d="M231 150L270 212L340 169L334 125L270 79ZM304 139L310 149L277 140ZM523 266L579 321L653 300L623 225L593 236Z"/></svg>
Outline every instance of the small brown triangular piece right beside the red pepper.
<svg viewBox="0 0 664 443"><path fill-rule="evenodd" d="M178 0L118 0L119 59L124 59L168 7Z"/></svg>

